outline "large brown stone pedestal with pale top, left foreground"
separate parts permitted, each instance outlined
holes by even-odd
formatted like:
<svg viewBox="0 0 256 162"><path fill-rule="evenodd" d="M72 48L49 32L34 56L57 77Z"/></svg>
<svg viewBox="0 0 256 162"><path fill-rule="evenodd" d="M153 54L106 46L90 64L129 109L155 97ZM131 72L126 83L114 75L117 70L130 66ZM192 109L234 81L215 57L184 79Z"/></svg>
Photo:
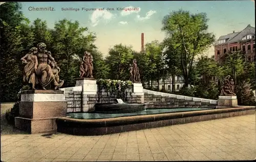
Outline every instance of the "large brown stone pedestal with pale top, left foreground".
<svg viewBox="0 0 256 162"><path fill-rule="evenodd" d="M66 117L66 113L67 101L63 91L23 91L15 127L31 134L56 132L55 119Z"/></svg>

